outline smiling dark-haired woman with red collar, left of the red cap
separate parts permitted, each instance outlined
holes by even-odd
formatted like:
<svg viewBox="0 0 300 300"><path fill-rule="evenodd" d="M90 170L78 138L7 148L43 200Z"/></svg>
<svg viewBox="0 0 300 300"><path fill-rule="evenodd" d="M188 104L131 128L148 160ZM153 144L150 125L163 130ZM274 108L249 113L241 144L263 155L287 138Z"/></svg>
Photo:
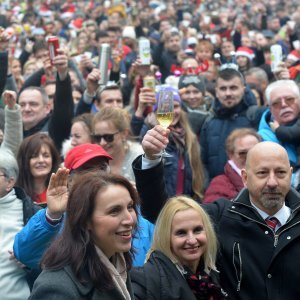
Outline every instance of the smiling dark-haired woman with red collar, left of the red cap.
<svg viewBox="0 0 300 300"><path fill-rule="evenodd" d="M46 191L53 172L60 163L52 139L45 133L36 133L25 138L17 155L19 178L22 187L37 204L46 204Z"/></svg>

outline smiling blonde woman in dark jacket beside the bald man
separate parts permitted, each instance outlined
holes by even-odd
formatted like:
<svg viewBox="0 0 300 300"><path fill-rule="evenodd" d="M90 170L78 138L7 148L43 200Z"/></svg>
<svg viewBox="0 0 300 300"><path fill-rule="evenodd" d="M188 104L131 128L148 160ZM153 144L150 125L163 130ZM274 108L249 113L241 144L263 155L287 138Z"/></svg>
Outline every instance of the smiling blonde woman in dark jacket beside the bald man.
<svg viewBox="0 0 300 300"><path fill-rule="evenodd" d="M135 299L225 299L216 255L207 213L188 197L169 199L158 216L145 265L132 271Z"/></svg>

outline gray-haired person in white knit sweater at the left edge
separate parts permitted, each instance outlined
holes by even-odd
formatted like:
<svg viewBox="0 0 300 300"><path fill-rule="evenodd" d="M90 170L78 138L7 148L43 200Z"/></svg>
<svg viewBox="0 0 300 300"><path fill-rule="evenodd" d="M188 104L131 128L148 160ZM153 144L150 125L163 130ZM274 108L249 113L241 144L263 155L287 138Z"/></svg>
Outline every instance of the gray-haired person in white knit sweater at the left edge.
<svg viewBox="0 0 300 300"><path fill-rule="evenodd" d="M38 210L21 188L14 187L19 173L17 161L0 149L0 291L2 300L29 297L28 273L12 258L14 237Z"/></svg>

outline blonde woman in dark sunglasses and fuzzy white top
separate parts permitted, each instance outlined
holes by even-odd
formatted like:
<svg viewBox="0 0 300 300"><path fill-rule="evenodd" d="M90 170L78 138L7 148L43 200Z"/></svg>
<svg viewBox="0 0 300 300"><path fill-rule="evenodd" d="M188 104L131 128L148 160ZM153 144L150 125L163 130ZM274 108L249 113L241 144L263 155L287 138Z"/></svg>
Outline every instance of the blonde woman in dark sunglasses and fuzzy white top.
<svg viewBox="0 0 300 300"><path fill-rule="evenodd" d="M135 181L131 163L143 150L132 139L128 112L121 108L104 107L95 114L92 127L93 143L103 147L113 158L111 172Z"/></svg>

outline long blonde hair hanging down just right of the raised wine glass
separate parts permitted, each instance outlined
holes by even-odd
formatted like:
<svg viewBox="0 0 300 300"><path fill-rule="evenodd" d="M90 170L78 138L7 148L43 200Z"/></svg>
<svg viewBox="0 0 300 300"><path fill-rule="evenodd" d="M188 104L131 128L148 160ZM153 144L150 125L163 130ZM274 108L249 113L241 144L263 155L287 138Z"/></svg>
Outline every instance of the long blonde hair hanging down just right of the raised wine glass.
<svg viewBox="0 0 300 300"><path fill-rule="evenodd" d="M204 168L201 161L201 152L198 139L193 132L187 117L187 113L181 110L181 126L185 129L185 139L190 166L192 169L192 189L195 195L201 199L204 190Z"/></svg>

